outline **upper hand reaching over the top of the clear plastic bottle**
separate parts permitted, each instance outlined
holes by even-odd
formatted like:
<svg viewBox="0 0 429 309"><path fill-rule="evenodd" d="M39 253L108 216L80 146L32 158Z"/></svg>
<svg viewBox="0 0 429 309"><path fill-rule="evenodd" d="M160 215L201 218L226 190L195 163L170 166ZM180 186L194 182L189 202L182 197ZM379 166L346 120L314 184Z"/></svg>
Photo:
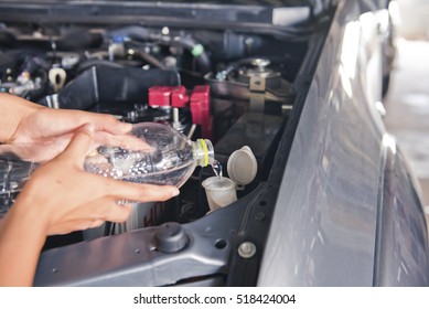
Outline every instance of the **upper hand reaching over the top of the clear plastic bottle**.
<svg viewBox="0 0 429 309"><path fill-rule="evenodd" d="M18 114L19 119L11 126L12 134L6 145L0 147L2 153L10 152L25 161L49 161L65 149L74 131L84 124L93 124L95 127L89 150L99 145L126 145L129 149L150 149L141 140L127 135L132 125L120 122L110 115L51 109L15 96L8 96L7 100L7 108L15 106L7 114L12 114L11 117Z"/></svg>

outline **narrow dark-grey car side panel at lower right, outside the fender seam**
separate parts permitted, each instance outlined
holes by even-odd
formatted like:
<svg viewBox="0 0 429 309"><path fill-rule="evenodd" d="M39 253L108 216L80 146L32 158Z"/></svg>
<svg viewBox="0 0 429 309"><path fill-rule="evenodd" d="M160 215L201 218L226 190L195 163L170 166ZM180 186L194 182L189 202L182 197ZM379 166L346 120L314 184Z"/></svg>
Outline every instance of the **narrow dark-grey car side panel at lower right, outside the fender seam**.
<svg viewBox="0 0 429 309"><path fill-rule="evenodd" d="M378 216L375 286L428 286L427 223L418 184L393 137L385 137L386 164Z"/></svg>

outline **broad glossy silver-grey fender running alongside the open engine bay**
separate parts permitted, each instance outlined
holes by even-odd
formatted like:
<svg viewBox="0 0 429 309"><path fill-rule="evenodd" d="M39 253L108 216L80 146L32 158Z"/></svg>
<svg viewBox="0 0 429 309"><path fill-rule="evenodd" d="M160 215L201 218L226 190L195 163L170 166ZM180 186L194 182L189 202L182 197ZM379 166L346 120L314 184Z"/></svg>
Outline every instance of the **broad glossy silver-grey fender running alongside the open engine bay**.
<svg viewBox="0 0 429 309"><path fill-rule="evenodd" d="M339 7L326 39L283 174L260 286L372 286L375 266L390 263L412 265L417 274L428 274L426 237L412 237L414 243L407 244L390 235L399 232L394 226L376 233L386 145L375 107L382 99L375 78L382 67L380 44L374 38L382 38L377 20L384 10L365 12L361 2L365 1ZM390 193L403 195L404 191ZM419 200L407 202L410 221L425 235ZM376 244L390 237L389 253L375 265ZM397 258L398 251L409 246L418 248L423 263L404 255ZM393 266L387 268L395 271ZM377 284L427 285L428 276L422 277Z"/></svg>

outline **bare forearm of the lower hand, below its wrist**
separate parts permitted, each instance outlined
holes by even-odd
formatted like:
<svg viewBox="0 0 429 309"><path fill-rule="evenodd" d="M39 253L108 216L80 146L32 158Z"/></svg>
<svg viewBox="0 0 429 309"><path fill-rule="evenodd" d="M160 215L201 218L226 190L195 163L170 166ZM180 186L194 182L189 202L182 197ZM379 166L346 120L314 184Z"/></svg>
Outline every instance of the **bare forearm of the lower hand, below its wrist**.
<svg viewBox="0 0 429 309"><path fill-rule="evenodd" d="M31 286L44 242L36 213L13 205L0 222L0 286Z"/></svg>

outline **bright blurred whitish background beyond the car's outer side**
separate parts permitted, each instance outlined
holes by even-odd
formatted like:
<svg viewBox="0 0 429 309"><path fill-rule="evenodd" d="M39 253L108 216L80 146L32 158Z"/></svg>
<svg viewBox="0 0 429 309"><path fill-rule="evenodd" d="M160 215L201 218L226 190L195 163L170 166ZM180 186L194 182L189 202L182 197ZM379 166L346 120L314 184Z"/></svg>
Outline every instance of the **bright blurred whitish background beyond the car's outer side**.
<svg viewBox="0 0 429 309"><path fill-rule="evenodd" d="M429 220L429 0L393 4L397 52L385 124L420 182Z"/></svg>

